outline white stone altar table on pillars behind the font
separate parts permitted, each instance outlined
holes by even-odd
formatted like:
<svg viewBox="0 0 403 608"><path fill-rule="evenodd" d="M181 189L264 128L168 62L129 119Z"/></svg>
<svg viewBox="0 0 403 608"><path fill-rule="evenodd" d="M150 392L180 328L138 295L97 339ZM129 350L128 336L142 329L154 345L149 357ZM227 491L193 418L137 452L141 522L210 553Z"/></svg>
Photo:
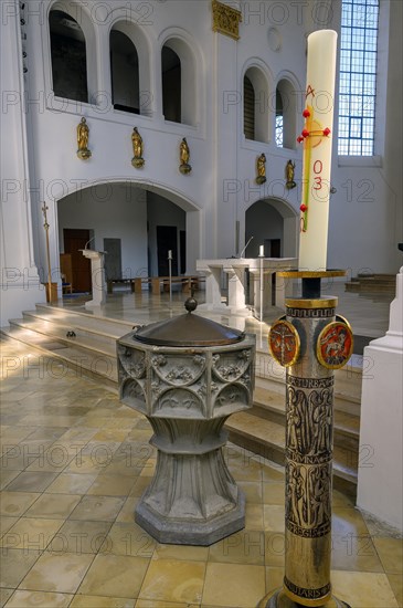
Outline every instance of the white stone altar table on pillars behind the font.
<svg viewBox="0 0 403 608"><path fill-rule="evenodd" d="M297 268L297 258L227 258L197 260L197 271L205 275L205 304L199 308L235 314L261 315L261 274L263 270L263 315L273 306L284 308L285 297L291 295L293 282L272 276L278 271ZM263 265L263 269L262 269ZM250 272L250 305L246 305L246 270ZM222 302L223 273L227 274L227 303Z"/></svg>

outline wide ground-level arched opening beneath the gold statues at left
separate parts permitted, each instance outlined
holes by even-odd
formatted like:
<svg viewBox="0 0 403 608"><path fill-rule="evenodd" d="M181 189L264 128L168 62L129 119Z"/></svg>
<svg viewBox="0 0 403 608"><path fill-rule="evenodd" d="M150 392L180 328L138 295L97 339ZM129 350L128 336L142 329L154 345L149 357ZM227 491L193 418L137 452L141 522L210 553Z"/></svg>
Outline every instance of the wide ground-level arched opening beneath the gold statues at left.
<svg viewBox="0 0 403 608"><path fill-rule="evenodd" d="M57 201L61 273L68 273L74 292L89 291L89 266L79 251L85 245L107 251L105 274L112 281L167 275L168 251L172 275L193 272L199 255L194 213L170 192L128 181L68 193Z"/></svg>

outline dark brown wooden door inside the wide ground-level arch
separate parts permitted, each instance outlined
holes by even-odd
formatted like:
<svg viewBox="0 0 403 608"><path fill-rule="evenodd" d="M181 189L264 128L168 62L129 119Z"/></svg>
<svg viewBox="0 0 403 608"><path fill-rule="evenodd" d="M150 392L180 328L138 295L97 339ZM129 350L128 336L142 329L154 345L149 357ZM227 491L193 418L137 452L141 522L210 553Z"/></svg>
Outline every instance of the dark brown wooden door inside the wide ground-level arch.
<svg viewBox="0 0 403 608"><path fill-rule="evenodd" d="M64 252L72 256L73 287L75 292L91 292L91 262L84 258L81 249L89 241L89 230L64 228Z"/></svg>

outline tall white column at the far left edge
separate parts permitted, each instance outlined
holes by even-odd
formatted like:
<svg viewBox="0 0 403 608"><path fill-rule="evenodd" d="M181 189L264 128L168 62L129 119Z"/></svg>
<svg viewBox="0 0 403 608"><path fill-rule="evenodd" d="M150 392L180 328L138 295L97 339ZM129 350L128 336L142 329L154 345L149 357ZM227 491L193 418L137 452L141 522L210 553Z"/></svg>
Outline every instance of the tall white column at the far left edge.
<svg viewBox="0 0 403 608"><path fill-rule="evenodd" d="M1 20L1 325L36 302L45 302L33 259L26 119L19 2L9 2Z"/></svg>

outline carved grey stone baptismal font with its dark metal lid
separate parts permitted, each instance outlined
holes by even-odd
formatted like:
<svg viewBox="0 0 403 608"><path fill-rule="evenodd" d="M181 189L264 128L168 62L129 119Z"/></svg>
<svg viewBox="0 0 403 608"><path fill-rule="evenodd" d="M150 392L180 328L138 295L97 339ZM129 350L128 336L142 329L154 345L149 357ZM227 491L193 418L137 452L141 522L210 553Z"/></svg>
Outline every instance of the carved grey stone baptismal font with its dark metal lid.
<svg viewBox="0 0 403 608"><path fill-rule="evenodd" d="M187 313L117 344L120 399L144 413L155 476L135 520L160 543L210 545L245 525L245 499L223 454L225 420L252 406L255 336Z"/></svg>

